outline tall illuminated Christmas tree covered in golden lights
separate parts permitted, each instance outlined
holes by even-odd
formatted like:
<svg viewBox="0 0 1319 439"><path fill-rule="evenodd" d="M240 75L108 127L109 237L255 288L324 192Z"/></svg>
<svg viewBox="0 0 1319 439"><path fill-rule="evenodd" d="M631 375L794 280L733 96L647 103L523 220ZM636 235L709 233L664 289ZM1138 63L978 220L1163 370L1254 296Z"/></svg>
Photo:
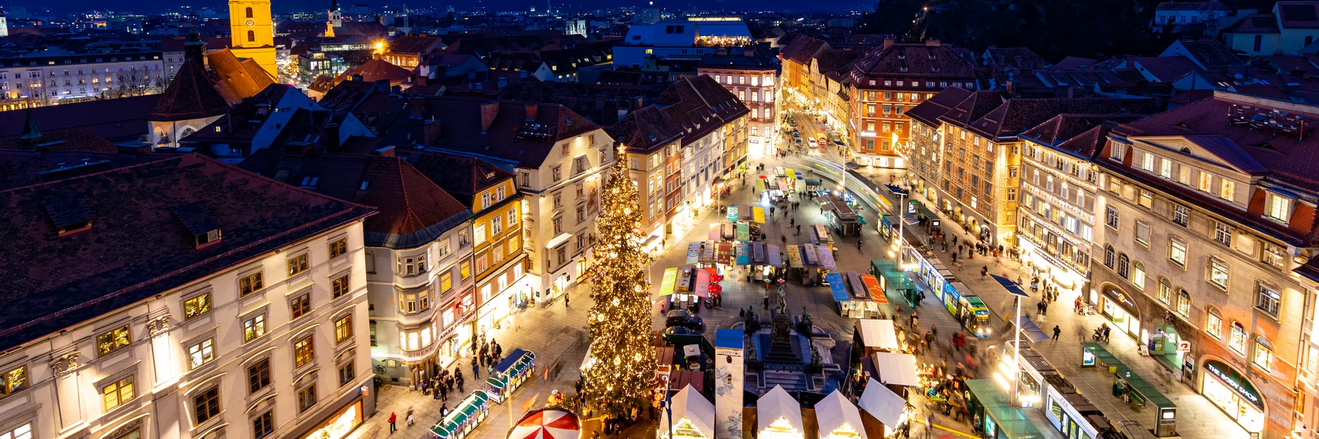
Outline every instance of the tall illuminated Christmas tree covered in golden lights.
<svg viewBox="0 0 1319 439"><path fill-rule="evenodd" d="M621 156L621 153L620 153ZM591 268L591 352L583 392L596 410L616 417L644 410L656 386L650 332L650 256L641 249L637 187L619 160L604 183Z"/></svg>

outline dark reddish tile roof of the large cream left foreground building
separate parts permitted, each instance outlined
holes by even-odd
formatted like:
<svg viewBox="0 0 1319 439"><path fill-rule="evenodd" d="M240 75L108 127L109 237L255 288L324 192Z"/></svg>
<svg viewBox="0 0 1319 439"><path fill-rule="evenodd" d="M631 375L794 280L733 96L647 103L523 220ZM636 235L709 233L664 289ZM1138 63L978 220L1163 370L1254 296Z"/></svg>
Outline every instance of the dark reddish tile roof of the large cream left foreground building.
<svg viewBox="0 0 1319 439"><path fill-rule="evenodd" d="M0 191L0 351L175 290L371 215L352 204L186 154ZM198 249L178 218L223 239ZM91 228L58 237L58 225ZM181 316L173 316L179 322Z"/></svg>

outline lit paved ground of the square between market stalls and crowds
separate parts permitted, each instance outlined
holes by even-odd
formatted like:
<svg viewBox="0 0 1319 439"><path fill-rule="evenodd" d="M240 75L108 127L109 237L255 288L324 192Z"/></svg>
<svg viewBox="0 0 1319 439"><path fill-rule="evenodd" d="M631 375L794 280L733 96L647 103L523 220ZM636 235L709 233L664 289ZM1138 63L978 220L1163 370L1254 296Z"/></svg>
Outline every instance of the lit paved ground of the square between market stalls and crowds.
<svg viewBox="0 0 1319 439"><path fill-rule="evenodd" d="M757 161L752 161L749 166L754 166ZM789 157L786 160L772 160L766 162L769 167L785 166L793 167L798 171L806 171L811 169L810 163L799 157ZM818 167L816 167L818 169ZM869 177L876 183L884 183L888 181L888 175L894 171L869 171L863 170L863 173ZM757 203L758 199L756 194L749 189L747 183L753 182L758 173L748 171L745 183L740 179L729 181L733 190L732 194L725 199L725 204L739 204L747 206L751 203ZM901 175L897 171L896 175ZM826 175L827 177L827 175ZM828 179L828 178L826 178ZM828 183L835 185L835 183ZM856 189L856 182L848 183L849 189ZM919 199L919 196L917 196ZM807 203L806 199L798 199L802 206L791 212L783 212L777 210L774 215L769 215L769 204L757 204L766 207L766 223L762 231L766 233L766 243L770 244L803 244L809 241L809 233L806 227L811 224L818 224L823 221L823 216L819 208L814 203ZM864 202L864 199L863 199ZM892 202L890 202L892 203ZM864 204L863 204L864 206ZM665 241L667 248L661 250L650 268L652 290L658 291L660 279L662 277L663 269L682 266L686 260L686 247L687 243L703 241L707 239L708 227L720 219L719 215L711 215L712 210L706 208L699 212L700 218L695 219L692 223L695 225L687 231L681 239L673 236L667 237ZM869 270L869 261L872 258L885 258L889 243L885 241L873 224L876 224L876 208L874 206L865 206L863 215L867 218L871 225L864 227L861 240L864 245L860 249L856 245L856 237L843 237L838 239L838 256L836 261L839 265L838 272L859 272L864 273ZM795 224L803 225L802 235L797 235ZM966 239L964 231L952 225L954 223L944 218L943 229L946 232L956 232ZM917 233L925 233L921 229L909 231L907 237L913 239ZM1030 278L1026 274L1026 268L1022 268L1016 262L1002 262L1001 265L993 265L991 258L977 257L971 261L964 261L960 266L954 266L950 262L950 253L935 252L936 256L944 260L946 265L950 266L955 274L963 281L973 293L980 295L985 303L989 306L995 315L995 328L1002 336L1004 334L1010 335L1010 331L1001 331L1005 327L1004 316L1012 308L1012 299L1009 294L989 278L980 277L980 268L988 265L989 272L993 274L1008 274L1010 278ZM699 315L704 319L707 327L707 337L714 337L714 328L727 327L731 322L737 319L739 308L753 307L756 312L765 315L764 310L764 297L765 287L762 285L749 283L745 281L737 281L737 274L745 278L745 273L733 273L735 276L727 277L721 282L723 290L723 307L720 308L702 308ZM835 339L849 339L852 324L855 319L843 318L838 312L838 307L832 301L827 287L822 286L802 286L799 282L785 283L787 291L786 301L787 308L791 314L799 315L803 310L810 312L814 318L816 326L831 334ZM1075 298L1075 291L1064 291L1062 297L1050 307L1050 314L1047 315L1031 315L1031 319L1042 328L1051 328L1053 326L1059 326L1063 330L1064 336L1057 341L1043 341L1035 348L1062 373L1064 373L1079 392L1091 399L1091 403L1096 405L1108 415L1109 419L1115 422L1119 427L1125 427L1126 434L1130 438L1153 438L1151 428L1154 422L1153 407L1148 409L1132 409L1124 405L1121 399L1111 397L1108 393L1109 377L1103 372L1093 369L1079 369L1079 352L1080 352L1080 339L1078 335L1088 335L1089 328L1099 326L1105 322L1104 318L1096 315L1076 315L1071 312L1070 303ZM501 330L491 331L492 336L500 341L505 352L514 348L530 349L537 353L537 373L526 384L518 389L510 398L512 403L505 402L503 405L496 405L491 409L488 418L472 432L472 438L480 439L501 439L508 432L509 428L509 410L517 411L517 406L530 397L536 397L538 401L543 401L551 390L572 392L572 384L579 378L578 368L583 357L586 356L587 340L586 340L586 312L591 306L591 299L588 290L586 287L575 287L570 290L571 307L566 307L562 301L555 302L545 308L532 308L525 310L513 319L510 326ZM890 298L894 301L896 298ZM656 297L656 320L654 328L662 330L663 322L662 315L658 312L660 298ZM947 337L952 335L952 330L958 327L954 318L943 311L942 307L934 302L935 299L930 295L926 302L921 303L918 312L921 315L921 327L929 328L930 326L942 328L939 332L940 337ZM1028 299L1024 302L1025 306L1030 306L1038 302L1038 297L1034 299ZM1031 307L1033 310L1033 307ZM882 310L884 314L892 315L892 303L888 308ZM907 310L909 312L909 310ZM1002 345L1002 339L995 337L989 340L977 340L969 337L972 343L977 343L980 352L984 352L983 359L992 359L997 351L997 347ZM946 340L940 340L940 345L947 347ZM1167 395L1179 407L1178 410L1178 432L1182 436L1190 438L1207 438L1207 436L1221 436L1221 438L1246 438L1245 431L1233 423L1227 415L1224 415L1219 409L1213 407L1202 395L1195 394L1195 392L1186 384L1173 382L1170 374L1166 369L1151 359L1141 359L1136 351L1134 340L1117 336L1112 343L1107 345L1109 352L1113 352L1119 359L1121 359L1126 365L1132 366L1133 370L1140 373L1146 381L1151 382ZM938 360L950 361L948 364L955 364L958 359L954 359L950 352L936 351L931 355L921 356L921 361L933 363ZM470 359L464 359L459 364L470 364ZM835 361L844 363L845 357L838 357ZM985 361L992 364L992 360ZM558 365L557 373L550 373L546 380L545 368ZM845 366L845 365L844 365ZM467 370L470 372L470 369ZM480 380L484 381L484 380ZM468 377L468 385L472 382L480 382L477 380L471 380ZM472 390L471 388L467 389ZM452 407L460 401L460 395L450 395L446 401L446 406ZM364 426L359 428L355 436L385 436L389 435L388 423L385 419L389 418L390 413L398 414L398 432L389 436L400 438L427 438L431 424L439 419L441 402L434 401L427 395L422 395L419 392L409 392L402 386L383 386L379 392L379 411L365 421ZM911 403L917 407L915 419L925 419L929 410L926 410L922 401L918 397L913 397ZM406 410L412 407L414 410L415 424L412 427L405 426L404 415ZM1039 426L1042 434L1046 438L1062 438L1057 430L1053 430L1047 421L1043 418L1041 410L1028 409L1025 410L1035 423ZM517 418L520 413L514 413L512 418ZM644 417L649 418L648 415ZM971 426L967 422L956 421L950 417L943 417L942 414L933 414L933 422L936 424L936 430L931 435L934 436L950 436L950 435L968 435ZM919 423L921 421L918 421ZM588 421L587 427L596 426L598 422ZM652 423L638 423L624 431L627 438L648 438L653 435ZM922 426L913 428L913 432L923 432ZM951 432L950 432L951 431ZM590 438L590 435L586 435Z"/></svg>

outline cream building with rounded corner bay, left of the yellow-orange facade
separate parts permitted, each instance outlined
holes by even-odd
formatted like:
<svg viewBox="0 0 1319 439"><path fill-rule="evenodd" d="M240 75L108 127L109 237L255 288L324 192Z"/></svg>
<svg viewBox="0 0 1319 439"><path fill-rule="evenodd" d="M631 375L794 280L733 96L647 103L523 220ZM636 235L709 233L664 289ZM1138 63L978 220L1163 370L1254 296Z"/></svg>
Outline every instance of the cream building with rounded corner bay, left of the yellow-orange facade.
<svg viewBox="0 0 1319 439"><path fill-rule="evenodd" d="M372 368L409 385L447 368L472 331L472 215L408 161L262 149L239 166L305 190L379 206L363 223Z"/></svg>

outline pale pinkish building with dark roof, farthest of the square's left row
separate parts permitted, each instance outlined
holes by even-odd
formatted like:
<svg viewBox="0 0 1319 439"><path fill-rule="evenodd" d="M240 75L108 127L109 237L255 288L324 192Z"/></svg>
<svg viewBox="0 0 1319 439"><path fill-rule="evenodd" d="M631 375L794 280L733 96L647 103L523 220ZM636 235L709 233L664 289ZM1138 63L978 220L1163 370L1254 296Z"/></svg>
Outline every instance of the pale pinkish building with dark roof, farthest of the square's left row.
<svg viewBox="0 0 1319 439"><path fill-rule="evenodd" d="M774 61L756 49L723 49L702 57L696 66L696 73L712 76L751 109L747 133L747 156L751 158L774 154L774 120L778 115L778 65Z"/></svg>

